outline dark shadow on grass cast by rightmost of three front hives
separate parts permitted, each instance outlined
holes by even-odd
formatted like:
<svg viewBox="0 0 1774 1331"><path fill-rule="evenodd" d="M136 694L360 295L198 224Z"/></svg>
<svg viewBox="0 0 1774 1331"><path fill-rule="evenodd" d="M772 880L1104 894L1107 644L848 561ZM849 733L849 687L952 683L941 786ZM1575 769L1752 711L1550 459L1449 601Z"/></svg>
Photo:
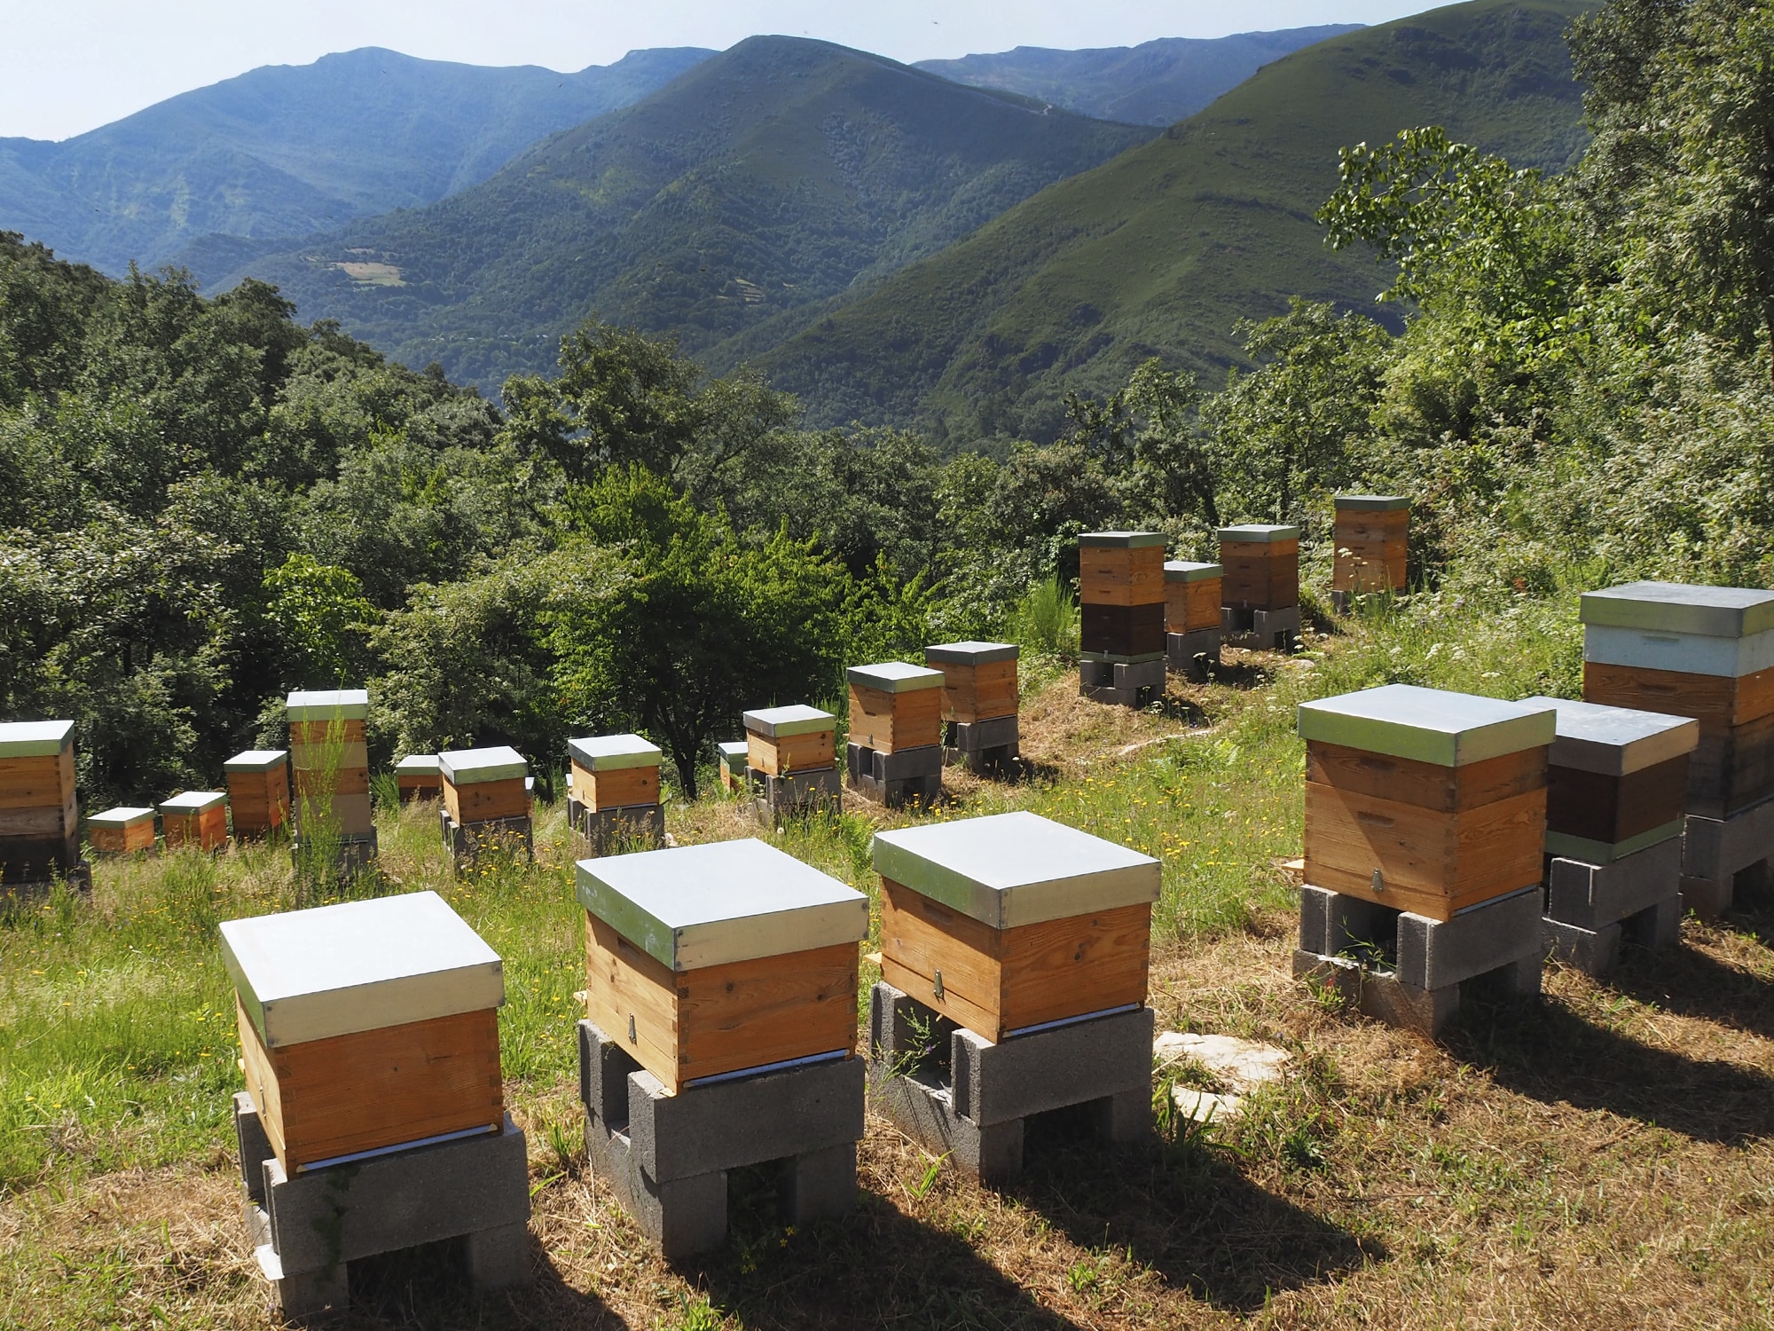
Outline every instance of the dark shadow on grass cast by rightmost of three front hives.
<svg viewBox="0 0 1774 1331"><path fill-rule="evenodd" d="M1173 1290L1235 1313L1387 1256L1378 1240L1258 1187L1206 1146L1093 1141L1086 1113L1031 1118L1025 1173L1009 1189L1079 1248L1123 1249Z"/></svg>

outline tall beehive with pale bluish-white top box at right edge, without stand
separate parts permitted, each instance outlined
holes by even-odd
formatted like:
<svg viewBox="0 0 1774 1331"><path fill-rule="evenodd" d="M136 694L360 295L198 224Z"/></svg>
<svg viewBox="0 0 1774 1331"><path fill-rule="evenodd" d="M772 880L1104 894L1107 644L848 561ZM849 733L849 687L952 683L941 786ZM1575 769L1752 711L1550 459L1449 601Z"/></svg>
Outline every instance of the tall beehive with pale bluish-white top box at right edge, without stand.
<svg viewBox="0 0 1774 1331"><path fill-rule="evenodd" d="M1584 701L1699 722L1687 813L1774 795L1774 591L1630 582L1581 614Z"/></svg>

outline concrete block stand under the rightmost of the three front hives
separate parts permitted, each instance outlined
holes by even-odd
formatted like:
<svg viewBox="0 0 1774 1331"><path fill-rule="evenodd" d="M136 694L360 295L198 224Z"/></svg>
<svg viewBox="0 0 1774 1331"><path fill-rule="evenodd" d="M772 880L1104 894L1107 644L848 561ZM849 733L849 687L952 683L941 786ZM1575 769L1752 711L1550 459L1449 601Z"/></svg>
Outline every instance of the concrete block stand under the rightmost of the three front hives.
<svg viewBox="0 0 1774 1331"><path fill-rule="evenodd" d="M935 1047L919 1045L915 1026L933 1035ZM1098 1138L1146 1139L1151 1031L1151 1008L1135 1008L992 1044L876 983L869 994L869 1093L876 1109L926 1150L946 1154L985 1184L1004 1182L1022 1173L1024 1129L1032 1114L1087 1104Z"/></svg>

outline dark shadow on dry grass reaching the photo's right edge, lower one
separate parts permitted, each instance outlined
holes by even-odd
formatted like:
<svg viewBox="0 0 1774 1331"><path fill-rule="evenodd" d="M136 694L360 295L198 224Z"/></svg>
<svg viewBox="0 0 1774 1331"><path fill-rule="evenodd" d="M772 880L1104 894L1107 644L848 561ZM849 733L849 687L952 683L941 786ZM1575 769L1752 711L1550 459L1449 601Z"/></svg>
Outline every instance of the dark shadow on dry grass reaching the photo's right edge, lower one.
<svg viewBox="0 0 1774 1331"><path fill-rule="evenodd" d="M1607 1109L1696 1141L1731 1145L1774 1134L1774 1079L1653 1049L1563 1003L1476 1004L1462 1010L1446 1044L1499 1086L1545 1104Z"/></svg>

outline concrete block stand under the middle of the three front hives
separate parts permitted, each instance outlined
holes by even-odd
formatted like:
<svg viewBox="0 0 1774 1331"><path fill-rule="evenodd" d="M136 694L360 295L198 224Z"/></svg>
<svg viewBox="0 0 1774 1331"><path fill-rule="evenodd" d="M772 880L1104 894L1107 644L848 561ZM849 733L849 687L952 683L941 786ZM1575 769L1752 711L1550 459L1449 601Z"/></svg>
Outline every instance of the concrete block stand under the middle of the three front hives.
<svg viewBox="0 0 1774 1331"><path fill-rule="evenodd" d="M729 1170L779 1162L789 1225L834 1219L857 1201L859 1058L717 1077L667 1095L619 1040L582 1020L578 1093L591 1171L671 1260L727 1240Z"/></svg>

